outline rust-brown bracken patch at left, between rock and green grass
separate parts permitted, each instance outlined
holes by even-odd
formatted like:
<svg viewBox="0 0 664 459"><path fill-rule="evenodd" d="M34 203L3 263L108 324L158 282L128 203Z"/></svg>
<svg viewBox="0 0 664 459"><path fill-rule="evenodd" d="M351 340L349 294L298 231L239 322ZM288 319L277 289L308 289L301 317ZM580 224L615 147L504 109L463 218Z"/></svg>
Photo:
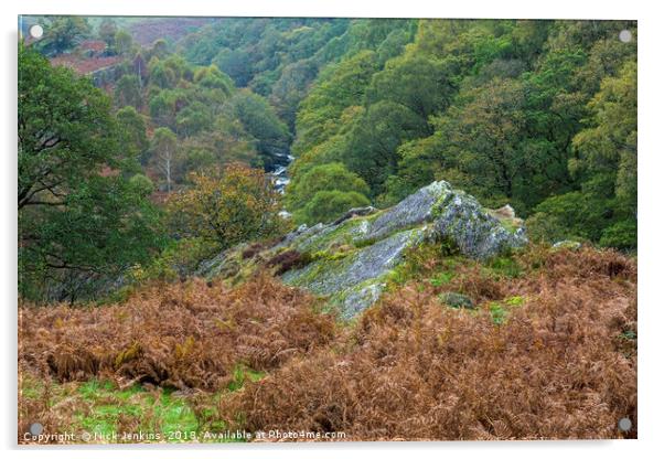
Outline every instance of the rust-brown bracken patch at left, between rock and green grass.
<svg viewBox="0 0 664 459"><path fill-rule="evenodd" d="M22 305L21 372L57 381L107 376L118 384L222 389L243 364L272 370L324 345L334 319L314 299L268 277L242 287L156 284L98 308Z"/></svg>

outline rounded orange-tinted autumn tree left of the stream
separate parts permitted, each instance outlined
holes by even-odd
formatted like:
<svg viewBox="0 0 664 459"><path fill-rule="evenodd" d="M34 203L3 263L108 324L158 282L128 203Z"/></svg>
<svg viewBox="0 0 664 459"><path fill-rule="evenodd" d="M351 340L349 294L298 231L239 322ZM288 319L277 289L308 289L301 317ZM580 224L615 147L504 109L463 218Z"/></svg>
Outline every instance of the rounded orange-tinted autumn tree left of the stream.
<svg viewBox="0 0 664 459"><path fill-rule="evenodd" d="M179 237L199 237L224 249L279 231L279 194L261 170L234 163L192 173L190 180L192 185L168 203Z"/></svg>

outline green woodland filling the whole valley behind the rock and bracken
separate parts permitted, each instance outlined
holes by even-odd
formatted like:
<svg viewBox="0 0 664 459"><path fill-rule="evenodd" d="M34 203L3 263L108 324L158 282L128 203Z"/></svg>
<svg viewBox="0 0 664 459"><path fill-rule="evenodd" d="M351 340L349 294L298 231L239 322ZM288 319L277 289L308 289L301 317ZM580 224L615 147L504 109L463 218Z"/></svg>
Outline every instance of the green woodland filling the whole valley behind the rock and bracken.
<svg viewBox="0 0 664 459"><path fill-rule="evenodd" d="M45 20L43 40L20 51L21 291L31 298L94 293L93 279L113 285L164 245L199 247L195 263L239 242L183 242L200 235L173 233L160 203L219 168L275 170L291 152L283 205L294 224L388 206L445 179L486 206L510 203L535 241L636 247L632 23L219 19L141 46L122 28L133 20ZM95 77L107 94L36 54L85 57L94 39L117 57ZM72 115L81 100L89 106ZM100 199L92 211L109 186L115 205ZM84 233L94 235L72 238Z"/></svg>

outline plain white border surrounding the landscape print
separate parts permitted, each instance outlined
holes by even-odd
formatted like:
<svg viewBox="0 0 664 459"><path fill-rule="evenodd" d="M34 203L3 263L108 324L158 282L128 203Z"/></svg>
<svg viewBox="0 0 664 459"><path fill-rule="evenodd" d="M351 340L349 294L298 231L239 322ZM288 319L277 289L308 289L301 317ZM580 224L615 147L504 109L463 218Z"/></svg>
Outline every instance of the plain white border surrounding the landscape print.
<svg viewBox="0 0 664 459"><path fill-rule="evenodd" d="M654 1L581 2L578 0L543 1L475 1L447 2L433 0L247 0L217 1L185 0L167 3L153 0L22 0L2 2L2 100L0 126L4 149L0 158L3 180L2 242L3 273L0 276L4 303L2 311L4 371L0 377L2 389L0 409L0 434L6 457L66 457L66 458L115 458L118 451L127 459L159 456L161 458L191 457L403 457L415 453L426 457L490 456L492 458L559 458L564 456L597 455L607 458L647 457L664 450L658 428L662 409L662 345L664 314L660 298L662 291L662 184L664 170L662 149L662 53L664 43L664 18ZM410 17L410 18L535 18L535 19L636 19L639 20L639 440L625 441L546 441L546 442L447 442L447 444L335 444L335 445L253 445L205 447L79 447L63 449L18 450L15 445L15 286L17 286L17 230L15 230L15 100L17 100L17 17L18 14L116 14L116 15L280 15L280 17Z"/></svg>

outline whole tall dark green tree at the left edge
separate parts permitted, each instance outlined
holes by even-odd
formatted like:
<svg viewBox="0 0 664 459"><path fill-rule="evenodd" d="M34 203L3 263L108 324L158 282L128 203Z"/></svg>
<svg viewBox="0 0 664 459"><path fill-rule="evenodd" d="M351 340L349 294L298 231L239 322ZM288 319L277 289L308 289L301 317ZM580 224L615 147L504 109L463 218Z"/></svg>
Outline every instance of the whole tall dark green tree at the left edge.
<svg viewBox="0 0 664 459"><path fill-rule="evenodd" d="M159 249L159 213L128 180L108 97L22 45L18 118L19 291L94 298Z"/></svg>

